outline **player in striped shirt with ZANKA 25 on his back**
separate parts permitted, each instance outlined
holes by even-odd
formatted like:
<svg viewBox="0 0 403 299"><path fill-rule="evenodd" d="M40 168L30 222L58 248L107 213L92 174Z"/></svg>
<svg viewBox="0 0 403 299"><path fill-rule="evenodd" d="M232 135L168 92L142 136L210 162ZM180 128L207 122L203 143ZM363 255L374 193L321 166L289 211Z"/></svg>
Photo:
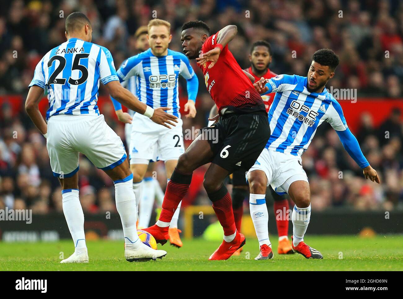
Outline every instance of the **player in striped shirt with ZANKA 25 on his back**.
<svg viewBox="0 0 403 299"><path fill-rule="evenodd" d="M177 117L164 112L170 108L153 109L124 89L116 76L112 55L105 47L91 43L91 38L92 27L85 14L70 14L66 18L67 41L51 49L39 61L25 102L29 117L47 138L50 165L62 185L63 212L75 251L61 263L88 262L78 189L79 153L114 181L126 260L162 258L165 251L153 250L137 236L133 174L122 140L99 112L99 84L101 82L118 101L157 124L170 128L169 124L174 126ZM44 89L49 91L46 122L38 109Z"/></svg>

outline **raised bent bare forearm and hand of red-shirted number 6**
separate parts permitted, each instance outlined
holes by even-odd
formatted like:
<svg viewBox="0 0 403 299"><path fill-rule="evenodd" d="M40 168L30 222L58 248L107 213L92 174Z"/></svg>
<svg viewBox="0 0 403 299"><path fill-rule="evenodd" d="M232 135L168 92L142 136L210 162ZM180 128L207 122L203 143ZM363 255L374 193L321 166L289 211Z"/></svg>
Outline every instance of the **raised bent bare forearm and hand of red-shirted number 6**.
<svg viewBox="0 0 403 299"><path fill-rule="evenodd" d="M233 40L235 35L237 35L238 29L237 26L235 25L228 25L222 28L220 31L218 31L217 34L217 44L214 47L214 49L200 54L198 58L196 58L196 61L198 64L204 64L205 62L211 61L210 65L208 68L212 68L214 64L217 63L218 57L220 56L220 53L222 49L230 42Z"/></svg>

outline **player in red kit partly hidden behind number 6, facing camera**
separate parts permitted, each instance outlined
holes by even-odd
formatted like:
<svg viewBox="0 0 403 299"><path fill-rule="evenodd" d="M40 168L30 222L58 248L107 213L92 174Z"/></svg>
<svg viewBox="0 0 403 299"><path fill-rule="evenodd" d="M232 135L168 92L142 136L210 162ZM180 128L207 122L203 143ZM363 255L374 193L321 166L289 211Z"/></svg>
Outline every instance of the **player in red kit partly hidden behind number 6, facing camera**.
<svg viewBox="0 0 403 299"><path fill-rule="evenodd" d="M249 61L251 66L245 69L254 78L254 82L260 80L260 78L270 79L277 76L269 68L272 62L272 49L270 43L267 41L256 41L253 43L249 54ZM273 102L274 95L276 93L269 93L262 95L266 111L269 111L270 105ZM238 231L241 231L241 222L243 216L243 201L245 198L249 198L249 185L245 179L245 173L243 171L235 171L232 175L232 208L234 211L235 225ZM276 215L276 225L278 232L278 254L293 254L293 248L288 240L288 219L286 217L289 209L288 199L284 198L274 192L272 188L269 188L274 199L274 214ZM239 255L242 248L235 252L235 255Z"/></svg>

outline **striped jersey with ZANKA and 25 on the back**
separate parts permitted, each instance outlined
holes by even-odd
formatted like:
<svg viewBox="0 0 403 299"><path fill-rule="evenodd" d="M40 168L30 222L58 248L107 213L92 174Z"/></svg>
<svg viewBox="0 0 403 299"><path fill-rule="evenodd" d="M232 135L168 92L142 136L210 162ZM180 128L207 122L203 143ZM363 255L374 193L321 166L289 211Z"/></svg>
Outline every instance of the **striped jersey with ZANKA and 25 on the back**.
<svg viewBox="0 0 403 299"><path fill-rule="evenodd" d="M29 87L47 87L48 120L58 114L99 115L100 81L106 84L115 80L119 78L108 49L71 38L39 61Z"/></svg>

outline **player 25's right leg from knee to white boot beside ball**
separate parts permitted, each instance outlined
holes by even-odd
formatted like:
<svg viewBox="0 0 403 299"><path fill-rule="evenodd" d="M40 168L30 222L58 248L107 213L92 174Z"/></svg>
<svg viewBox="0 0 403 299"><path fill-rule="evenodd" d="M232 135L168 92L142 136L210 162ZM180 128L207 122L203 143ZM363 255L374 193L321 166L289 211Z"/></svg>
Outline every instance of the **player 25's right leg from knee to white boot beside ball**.
<svg viewBox="0 0 403 299"><path fill-rule="evenodd" d="M143 244L137 235L137 209L133 192L133 173L127 159L120 165L106 170L115 184L116 209L122 221L125 236L125 258L129 262L155 260L166 255L164 250L154 250Z"/></svg>

